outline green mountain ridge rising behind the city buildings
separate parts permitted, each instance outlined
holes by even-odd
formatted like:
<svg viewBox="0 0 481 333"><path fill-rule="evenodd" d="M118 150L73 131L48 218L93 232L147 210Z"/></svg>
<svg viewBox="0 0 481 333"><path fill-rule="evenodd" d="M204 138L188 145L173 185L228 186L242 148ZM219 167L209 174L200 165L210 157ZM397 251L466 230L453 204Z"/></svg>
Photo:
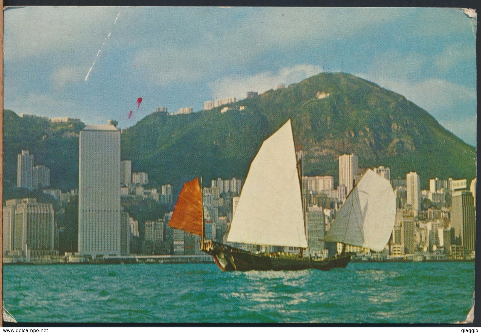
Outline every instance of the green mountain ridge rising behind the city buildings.
<svg viewBox="0 0 481 333"><path fill-rule="evenodd" d="M324 94L329 94L325 98ZM262 141L291 118L306 175L333 175L339 155L355 153L359 167L391 168L391 177L417 171L429 179L476 176L476 148L445 130L403 96L350 74L322 73L221 108L186 115L152 113L121 135L122 159L146 171L154 185L182 184L203 175L245 178ZM243 106L244 110L239 110ZM50 123L4 111L4 183L16 183L16 155L29 149L51 169L51 186L78 184L78 132L83 123Z"/></svg>

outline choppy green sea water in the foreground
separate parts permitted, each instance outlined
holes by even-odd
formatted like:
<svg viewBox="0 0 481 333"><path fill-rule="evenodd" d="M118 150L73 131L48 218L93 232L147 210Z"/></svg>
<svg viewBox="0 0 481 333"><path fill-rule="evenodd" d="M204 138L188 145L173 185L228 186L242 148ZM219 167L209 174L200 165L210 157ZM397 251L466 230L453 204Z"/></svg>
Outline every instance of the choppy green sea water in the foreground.
<svg viewBox="0 0 481 333"><path fill-rule="evenodd" d="M453 323L474 262L350 263L332 271L222 272L215 264L7 265L19 322Z"/></svg>

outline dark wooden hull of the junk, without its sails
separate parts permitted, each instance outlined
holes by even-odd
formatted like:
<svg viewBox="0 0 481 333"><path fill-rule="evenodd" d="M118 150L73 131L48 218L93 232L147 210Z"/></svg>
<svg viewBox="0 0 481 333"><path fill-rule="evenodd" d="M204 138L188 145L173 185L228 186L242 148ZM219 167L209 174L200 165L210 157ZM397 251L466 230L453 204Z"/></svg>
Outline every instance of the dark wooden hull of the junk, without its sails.
<svg viewBox="0 0 481 333"><path fill-rule="evenodd" d="M285 254L255 254L214 241L204 242L201 249L214 258L222 271L301 271L311 268L329 271L345 268L351 260L350 253L323 260Z"/></svg>

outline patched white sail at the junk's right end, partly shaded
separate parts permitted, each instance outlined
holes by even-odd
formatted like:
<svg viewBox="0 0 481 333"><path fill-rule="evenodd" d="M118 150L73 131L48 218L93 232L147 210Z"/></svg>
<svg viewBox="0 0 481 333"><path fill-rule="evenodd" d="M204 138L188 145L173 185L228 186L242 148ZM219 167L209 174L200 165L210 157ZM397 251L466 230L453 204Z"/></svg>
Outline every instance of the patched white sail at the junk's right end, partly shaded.
<svg viewBox="0 0 481 333"><path fill-rule="evenodd" d="M371 169L359 180L324 237L382 251L389 241L396 217L396 196L389 180Z"/></svg>

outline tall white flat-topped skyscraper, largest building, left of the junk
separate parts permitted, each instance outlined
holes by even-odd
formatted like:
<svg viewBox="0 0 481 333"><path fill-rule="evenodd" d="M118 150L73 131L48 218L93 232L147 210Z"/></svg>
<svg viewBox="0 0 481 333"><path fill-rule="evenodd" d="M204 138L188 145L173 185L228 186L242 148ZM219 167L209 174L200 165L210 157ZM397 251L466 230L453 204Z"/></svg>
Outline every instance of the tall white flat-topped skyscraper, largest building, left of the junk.
<svg viewBox="0 0 481 333"><path fill-rule="evenodd" d="M120 132L87 125L79 141L78 251L120 255Z"/></svg>

